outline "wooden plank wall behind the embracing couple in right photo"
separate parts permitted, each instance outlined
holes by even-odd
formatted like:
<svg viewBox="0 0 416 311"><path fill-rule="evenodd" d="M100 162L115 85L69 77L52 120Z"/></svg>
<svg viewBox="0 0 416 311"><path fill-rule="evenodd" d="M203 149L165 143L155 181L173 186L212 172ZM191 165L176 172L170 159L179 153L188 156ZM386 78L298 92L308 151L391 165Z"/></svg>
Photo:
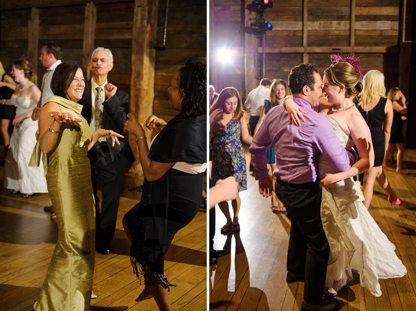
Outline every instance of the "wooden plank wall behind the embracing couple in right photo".
<svg viewBox="0 0 416 311"><path fill-rule="evenodd" d="M251 3L243 2L245 6ZM233 1L227 8L223 6L214 1L215 25L210 27L215 28L216 36L210 46L227 42L244 47L239 39L244 8L239 9ZM385 74L387 89L398 86L399 11L400 0L274 1L273 8L265 11L266 21L273 25L273 30L266 32L266 77L287 79L290 69L305 60L322 72L330 65L331 54L346 56L356 51L356 55L363 55L364 73L380 70ZM239 88L245 79L241 72L238 66L229 66L222 76L211 76L211 83ZM242 81L236 81L236 77Z"/></svg>

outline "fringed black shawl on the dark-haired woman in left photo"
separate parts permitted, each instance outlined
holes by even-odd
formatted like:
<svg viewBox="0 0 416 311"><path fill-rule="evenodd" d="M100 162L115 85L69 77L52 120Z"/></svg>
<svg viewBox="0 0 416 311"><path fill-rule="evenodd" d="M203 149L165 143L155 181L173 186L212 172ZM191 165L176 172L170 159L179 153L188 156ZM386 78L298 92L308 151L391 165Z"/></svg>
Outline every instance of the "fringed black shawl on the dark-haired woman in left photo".
<svg viewBox="0 0 416 311"><path fill-rule="evenodd" d="M206 115L184 118L182 114L172 118L155 138L149 158L161 163L204 163L206 151ZM160 179L143 183L143 193L133 236L130 259L133 271L146 285L174 286L163 274L167 241L167 214L169 198L168 171Z"/></svg>

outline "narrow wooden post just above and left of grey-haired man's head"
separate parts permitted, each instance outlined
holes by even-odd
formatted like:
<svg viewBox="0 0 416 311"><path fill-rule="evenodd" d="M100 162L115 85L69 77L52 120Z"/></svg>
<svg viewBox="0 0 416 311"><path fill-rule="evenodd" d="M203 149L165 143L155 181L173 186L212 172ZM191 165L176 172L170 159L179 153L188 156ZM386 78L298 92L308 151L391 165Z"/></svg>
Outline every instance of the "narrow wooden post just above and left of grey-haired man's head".
<svg viewBox="0 0 416 311"><path fill-rule="evenodd" d="M95 24L97 21L97 9L95 5L87 3L85 6L84 39L82 46L82 66L87 69L88 79L90 78L89 62L91 52L94 50Z"/></svg>

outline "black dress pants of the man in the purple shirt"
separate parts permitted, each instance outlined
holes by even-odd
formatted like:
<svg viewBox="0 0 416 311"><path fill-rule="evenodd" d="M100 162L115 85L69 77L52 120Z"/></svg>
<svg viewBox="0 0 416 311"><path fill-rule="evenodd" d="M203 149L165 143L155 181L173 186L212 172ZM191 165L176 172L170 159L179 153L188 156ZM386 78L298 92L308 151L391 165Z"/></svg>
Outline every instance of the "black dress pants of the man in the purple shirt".
<svg viewBox="0 0 416 311"><path fill-rule="evenodd" d="M329 244L322 227L318 182L287 183L276 178L276 195L291 221L287 270L305 273L304 299L317 303L324 292Z"/></svg>

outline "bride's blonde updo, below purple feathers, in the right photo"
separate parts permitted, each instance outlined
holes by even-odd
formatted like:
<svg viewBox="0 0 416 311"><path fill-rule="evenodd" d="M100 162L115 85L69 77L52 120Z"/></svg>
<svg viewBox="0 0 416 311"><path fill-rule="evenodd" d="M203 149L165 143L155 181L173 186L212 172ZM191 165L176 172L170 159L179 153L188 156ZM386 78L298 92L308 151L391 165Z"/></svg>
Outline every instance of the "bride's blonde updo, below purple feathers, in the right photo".
<svg viewBox="0 0 416 311"><path fill-rule="evenodd" d="M330 83L334 85L345 85L345 92L348 97L358 96L363 90L360 75L346 61L340 61L327 68L324 74Z"/></svg>

